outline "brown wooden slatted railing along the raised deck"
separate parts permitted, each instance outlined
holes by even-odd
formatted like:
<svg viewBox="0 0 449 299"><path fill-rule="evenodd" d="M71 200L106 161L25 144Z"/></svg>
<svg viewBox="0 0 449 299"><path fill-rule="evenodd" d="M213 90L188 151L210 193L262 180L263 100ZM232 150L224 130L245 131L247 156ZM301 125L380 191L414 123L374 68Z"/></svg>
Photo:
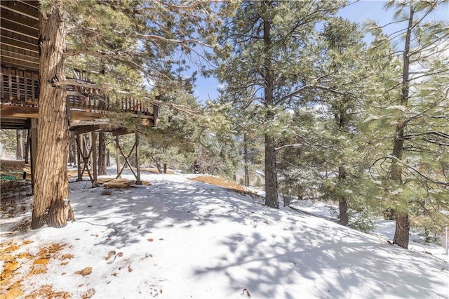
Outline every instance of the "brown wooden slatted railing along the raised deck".
<svg viewBox="0 0 449 299"><path fill-rule="evenodd" d="M1 102L19 106L39 107L38 72L2 66L0 81ZM86 83L93 84L88 81ZM157 105L152 105L150 108L142 100L126 97L118 101L111 101L98 89L83 86L67 86L67 104L72 109L80 109L86 112L103 114L107 112L131 112L145 116L152 115L155 121L159 114Z"/></svg>

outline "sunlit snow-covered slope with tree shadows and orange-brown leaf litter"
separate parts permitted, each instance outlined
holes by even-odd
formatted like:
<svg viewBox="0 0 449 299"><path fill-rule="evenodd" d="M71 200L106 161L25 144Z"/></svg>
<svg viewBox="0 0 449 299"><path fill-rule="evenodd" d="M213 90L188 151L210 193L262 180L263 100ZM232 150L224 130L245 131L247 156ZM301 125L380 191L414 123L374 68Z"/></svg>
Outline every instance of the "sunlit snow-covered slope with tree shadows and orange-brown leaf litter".
<svg viewBox="0 0 449 299"><path fill-rule="evenodd" d="M20 217L2 208L1 293L449 298L449 265L441 258L188 178L142 175L152 185L123 190L71 182L76 222L62 229L15 230L31 217L30 199L18 203Z"/></svg>

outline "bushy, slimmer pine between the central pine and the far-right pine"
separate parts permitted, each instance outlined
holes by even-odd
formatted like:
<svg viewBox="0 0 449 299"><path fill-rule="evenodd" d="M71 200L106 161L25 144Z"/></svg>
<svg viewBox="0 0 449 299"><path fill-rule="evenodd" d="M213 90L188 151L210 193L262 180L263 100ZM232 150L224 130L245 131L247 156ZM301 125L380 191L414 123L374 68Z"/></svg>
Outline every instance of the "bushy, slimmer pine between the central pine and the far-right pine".
<svg viewBox="0 0 449 299"><path fill-rule="evenodd" d="M326 145L330 152L326 154L326 173L335 175L324 182L326 197L338 202L340 224L349 224L349 207L356 201L357 181L363 180L361 163L363 153L359 149L356 136L361 121L363 84L367 72L363 65L366 54L363 34L358 25L343 18L330 18L323 27L323 60L321 67L326 71L329 85L333 89L344 91L324 93L322 121L326 126ZM353 208L355 207L355 203Z"/></svg>

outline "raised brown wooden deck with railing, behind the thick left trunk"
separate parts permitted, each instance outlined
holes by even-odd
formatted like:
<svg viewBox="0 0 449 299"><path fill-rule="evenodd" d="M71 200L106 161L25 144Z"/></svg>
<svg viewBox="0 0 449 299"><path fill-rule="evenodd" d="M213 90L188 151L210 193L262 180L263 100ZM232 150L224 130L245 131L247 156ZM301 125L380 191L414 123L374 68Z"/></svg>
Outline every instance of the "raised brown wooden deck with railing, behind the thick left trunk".
<svg viewBox="0 0 449 299"><path fill-rule="evenodd" d="M112 112L130 113L141 124L156 126L159 107L148 107L142 100L122 98L111 101L93 82L72 78L80 86L67 86L67 117L71 121L95 121ZM82 84L86 83L83 87ZM1 67L1 128L29 128L29 119L39 118L39 73L13 67Z"/></svg>

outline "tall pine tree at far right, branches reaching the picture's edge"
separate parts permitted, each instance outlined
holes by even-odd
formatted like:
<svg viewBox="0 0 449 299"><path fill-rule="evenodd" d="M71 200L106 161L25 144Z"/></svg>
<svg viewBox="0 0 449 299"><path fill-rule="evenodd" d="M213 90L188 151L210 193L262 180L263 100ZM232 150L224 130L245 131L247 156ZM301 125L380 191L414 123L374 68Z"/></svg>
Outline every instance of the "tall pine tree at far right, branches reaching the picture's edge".
<svg viewBox="0 0 449 299"><path fill-rule="evenodd" d="M385 7L395 10L394 21L403 25L389 36L382 35L379 25L370 24L379 46L402 38L401 49L387 53L396 64L396 74L380 82L383 94L377 102L376 124L387 130L392 143L375 166L384 178L385 196L396 219L394 244L403 248L408 247L410 214L424 210L437 218L438 209L448 208L448 86L444 81L449 74L449 26L447 20L432 17L445 2L387 2ZM385 133L377 138L386 145Z"/></svg>

